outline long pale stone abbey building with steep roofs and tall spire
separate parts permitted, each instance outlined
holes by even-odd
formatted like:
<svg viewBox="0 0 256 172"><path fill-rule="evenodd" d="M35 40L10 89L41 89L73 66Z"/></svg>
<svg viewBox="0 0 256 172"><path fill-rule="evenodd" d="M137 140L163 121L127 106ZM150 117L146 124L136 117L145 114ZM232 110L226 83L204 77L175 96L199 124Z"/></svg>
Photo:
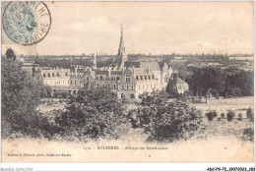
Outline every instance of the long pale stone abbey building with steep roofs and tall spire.
<svg viewBox="0 0 256 172"><path fill-rule="evenodd" d="M188 90L188 85L173 75L172 69L164 62L128 62L124 46L123 29L115 67L97 68L96 55L93 67L74 66L71 69L38 69L33 78L52 91L64 90L76 94L84 86L107 86L119 98L138 98L143 92L165 89L169 80L176 81L179 93Z"/></svg>

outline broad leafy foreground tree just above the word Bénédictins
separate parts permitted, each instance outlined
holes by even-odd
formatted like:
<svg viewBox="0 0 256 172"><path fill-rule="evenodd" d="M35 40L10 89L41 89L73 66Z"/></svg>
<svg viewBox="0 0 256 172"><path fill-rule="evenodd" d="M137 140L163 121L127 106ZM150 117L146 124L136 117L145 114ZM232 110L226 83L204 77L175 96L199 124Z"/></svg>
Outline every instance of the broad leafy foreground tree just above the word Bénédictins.
<svg viewBox="0 0 256 172"><path fill-rule="evenodd" d="M173 142L191 138L199 129L202 115L179 101L167 101L164 91L145 93L136 109L136 125L148 134L149 141Z"/></svg>

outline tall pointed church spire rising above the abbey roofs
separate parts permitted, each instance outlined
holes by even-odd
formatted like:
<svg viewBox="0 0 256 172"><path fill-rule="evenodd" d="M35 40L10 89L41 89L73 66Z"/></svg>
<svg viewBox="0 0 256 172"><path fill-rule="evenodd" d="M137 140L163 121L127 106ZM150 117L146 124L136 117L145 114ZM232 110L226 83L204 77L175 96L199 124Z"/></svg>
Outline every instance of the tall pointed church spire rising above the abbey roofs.
<svg viewBox="0 0 256 172"><path fill-rule="evenodd" d="M118 58L117 69L123 69L124 63L127 61L127 56L125 54L124 40L123 40L123 27L121 28L121 37L120 37L120 44L118 48L117 58Z"/></svg>

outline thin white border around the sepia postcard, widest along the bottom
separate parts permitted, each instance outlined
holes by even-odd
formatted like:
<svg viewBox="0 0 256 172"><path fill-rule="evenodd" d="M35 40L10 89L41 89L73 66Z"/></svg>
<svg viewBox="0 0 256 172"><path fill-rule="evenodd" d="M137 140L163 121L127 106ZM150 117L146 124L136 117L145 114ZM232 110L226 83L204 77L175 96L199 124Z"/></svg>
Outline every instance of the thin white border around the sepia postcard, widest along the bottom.
<svg viewBox="0 0 256 172"><path fill-rule="evenodd" d="M1 1L7 1L7 0L1 0ZM25 0L21 0L21 1L25 1ZM50 1L50 0L45 0L45 1ZM60 0L55 0L55 1L60 1ZM71 1L71 0L62 0L62 1ZM82 0L77 0L77 1L82 1ZM83 1L90 1L90 0L83 0ZM100 0L100 1L108 1L108 0ZM118 1L118 0L112 0L112 1ZM122 1L133 1L133 0L122 0ZM140 0L140 1L168 1L168 0ZM172 0L172 1L178 1L178 0ZM183 0L183 1L195 1L195 0ZM207 1L207 0L200 0L200 1ZM249 0L213 0L213 1L249 1ZM256 19L255 0L251 0L250 2L254 2L254 19ZM0 14L2 14L1 8L0 8ZM254 21L254 30L255 29L256 29L256 25ZM254 59L255 59L255 50L256 50L255 40L256 40L256 35L254 31ZM255 63L254 63L254 69L256 69ZM1 71L0 71L0 74L1 74ZM256 80L255 76L256 76L256 72L254 70L254 81ZM255 84L254 84L254 92L256 92ZM254 100L254 107L256 107L255 100ZM254 121L254 128L256 126L255 124L256 122ZM1 125L0 125L0 129L1 129ZM1 136L1 133L0 133L0 136ZM254 138L255 136L256 135L254 133ZM255 147L255 142L254 142L254 147ZM1 154L1 149L0 149L0 154ZM31 171L26 169L32 168L32 171L111 171L111 172L113 171L197 171L199 172L199 171L207 171L208 167L225 167L225 168L255 167L255 155L256 155L256 151L254 148L254 163L2 163L1 156L0 156L0 168L8 169L8 171Z"/></svg>

